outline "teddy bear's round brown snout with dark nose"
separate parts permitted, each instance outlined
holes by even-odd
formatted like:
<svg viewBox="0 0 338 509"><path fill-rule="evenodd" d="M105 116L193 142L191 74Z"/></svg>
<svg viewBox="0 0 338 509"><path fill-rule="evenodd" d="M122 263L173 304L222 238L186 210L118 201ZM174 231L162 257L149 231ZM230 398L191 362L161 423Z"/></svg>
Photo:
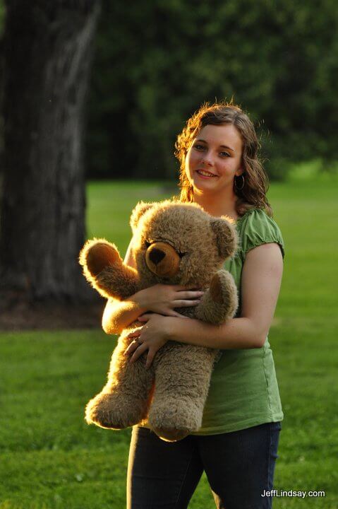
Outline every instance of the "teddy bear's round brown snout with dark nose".
<svg viewBox="0 0 338 509"><path fill-rule="evenodd" d="M167 242L153 242L147 248L145 262L157 276L172 277L179 271L180 257Z"/></svg>

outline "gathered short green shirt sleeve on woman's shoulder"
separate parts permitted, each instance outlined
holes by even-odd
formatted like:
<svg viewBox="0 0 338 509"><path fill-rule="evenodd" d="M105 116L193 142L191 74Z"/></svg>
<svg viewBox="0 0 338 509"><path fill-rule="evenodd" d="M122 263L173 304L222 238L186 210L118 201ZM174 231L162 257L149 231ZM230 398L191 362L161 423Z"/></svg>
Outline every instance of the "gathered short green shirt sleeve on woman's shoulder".
<svg viewBox="0 0 338 509"><path fill-rule="evenodd" d="M284 257L284 240L282 233L272 218L259 209L254 209L243 218L241 225L241 247L243 257L252 250L262 244L276 242L282 251Z"/></svg>

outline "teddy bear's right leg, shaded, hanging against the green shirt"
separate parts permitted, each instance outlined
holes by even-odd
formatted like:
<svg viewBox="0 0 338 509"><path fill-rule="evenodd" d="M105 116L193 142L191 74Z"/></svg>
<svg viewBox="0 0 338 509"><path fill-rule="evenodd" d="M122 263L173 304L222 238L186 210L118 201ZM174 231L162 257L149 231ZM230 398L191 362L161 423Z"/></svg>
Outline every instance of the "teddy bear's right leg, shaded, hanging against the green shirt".
<svg viewBox="0 0 338 509"><path fill-rule="evenodd" d="M148 422L163 440L181 440L200 428L216 353L175 344L159 359Z"/></svg>

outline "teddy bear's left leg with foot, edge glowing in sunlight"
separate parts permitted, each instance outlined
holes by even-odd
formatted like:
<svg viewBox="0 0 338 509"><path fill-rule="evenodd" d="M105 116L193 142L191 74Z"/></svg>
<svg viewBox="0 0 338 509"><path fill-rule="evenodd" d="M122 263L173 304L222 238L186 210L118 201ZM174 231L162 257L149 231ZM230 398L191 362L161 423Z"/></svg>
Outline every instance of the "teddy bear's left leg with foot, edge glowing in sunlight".
<svg viewBox="0 0 338 509"><path fill-rule="evenodd" d="M88 424L123 429L147 416L154 369L145 369L145 357L129 363L129 357L124 355L127 346L128 342L121 337L111 358L107 384L86 406Z"/></svg>

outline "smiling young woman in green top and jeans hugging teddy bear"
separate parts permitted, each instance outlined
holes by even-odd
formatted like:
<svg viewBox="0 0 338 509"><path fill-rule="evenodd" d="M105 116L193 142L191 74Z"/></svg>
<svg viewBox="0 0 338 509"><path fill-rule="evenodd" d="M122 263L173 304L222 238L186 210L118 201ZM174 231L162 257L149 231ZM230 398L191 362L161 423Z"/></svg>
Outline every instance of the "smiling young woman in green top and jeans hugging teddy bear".
<svg viewBox="0 0 338 509"><path fill-rule="evenodd" d="M267 333L282 279L282 235L265 196L258 139L248 116L234 105L203 105L176 142L181 200L212 216L236 221L239 249L225 264L239 290L240 307L217 327L183 318L181 306L198 303L198 288L156 285L123 302L109 301L105 332L119 333L136 318L131 362L150 364L166 341L222 350L215 365L198 433L177 443L135 426L128 466L128 508L186 508L203 470L217 508L270 508L280 421L283 419ZM133 245L126 254L133 266ZM152 313L147 313L151 311ZM142 315L142 316L141 316ZM114 327L112 324L114 323Z"/></svg>

